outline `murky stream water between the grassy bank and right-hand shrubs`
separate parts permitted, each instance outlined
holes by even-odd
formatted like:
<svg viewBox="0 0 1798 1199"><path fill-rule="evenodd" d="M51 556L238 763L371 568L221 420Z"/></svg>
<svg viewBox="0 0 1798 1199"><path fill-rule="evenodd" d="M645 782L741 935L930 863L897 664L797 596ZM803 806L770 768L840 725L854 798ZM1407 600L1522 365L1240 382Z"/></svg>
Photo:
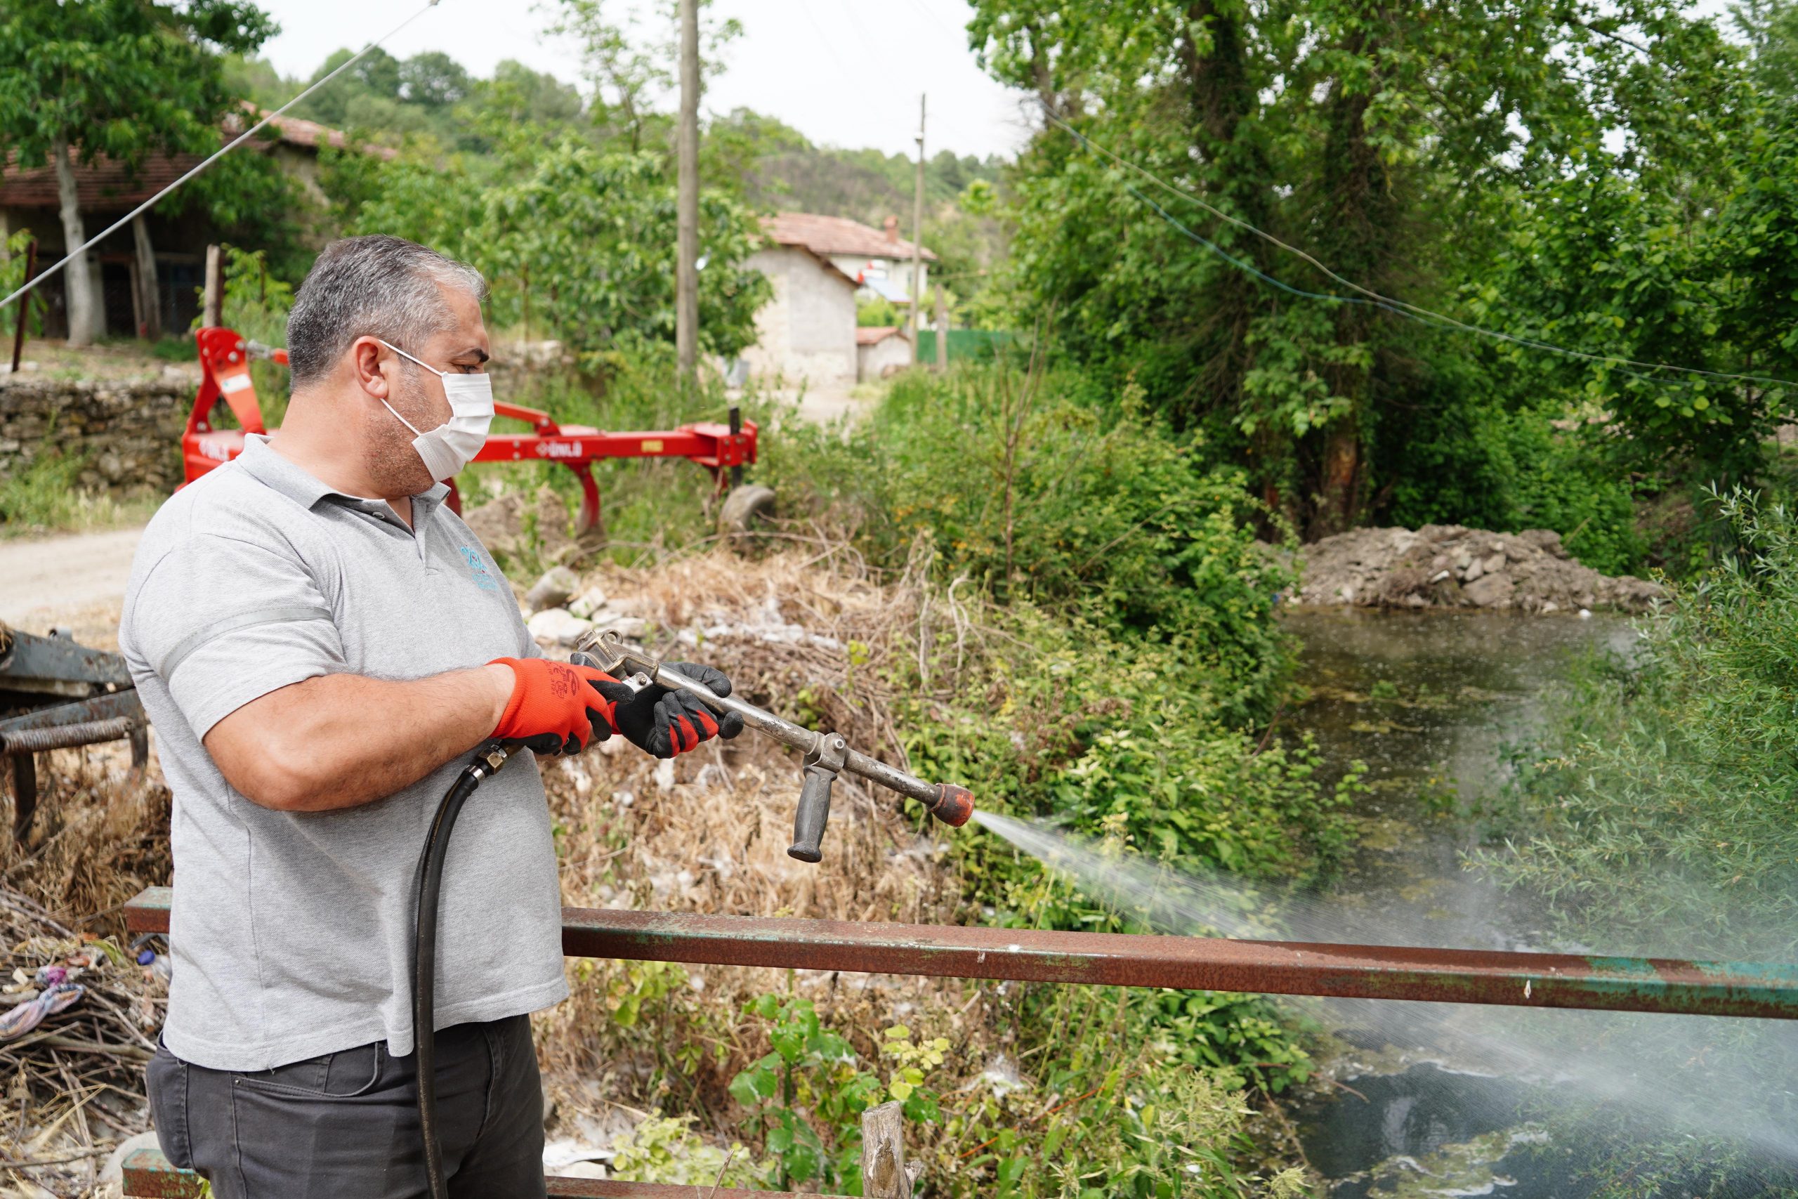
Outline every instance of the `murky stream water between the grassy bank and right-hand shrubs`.
<svg viewBox="0 0 1798 1199"><path fill-rule="evenodd" d="M1627 653L1631 626L1616 617L1370 611L1293 613L1287 626L1302 640L1313 699L1286 728L1313 733L1332 771L1356 759L1368 766L1354 813L1359 848L1307 904L1323 913L1327 938L1548 947L1544 920L1465 872L1462 854L1500 798L1505 742L1543 719L1544 688L1575 654ZM1618 1147L1553 1145L1532 1115L1561 1098L1631 1106L1649 1124L1690 1107L1701 1100L1670 1095L1676 1088L1658 1080L1654 1061L1717 1026L1410 1003L1318 1001L1305 1010L1336 1048L1293 1116L1311 1165L1331 1179L1331 1199L1580 1199L1595 1185L1584 1167ZM1629 1019L1638 1023L1620 1023ZM1660 1023L1643 1032L1642 1019ZM1651 1052L1645 1039L1669 1041ZM1717 1131L1742 1120L1733 1107ZM1762 1141L1776 1156L1791 1150L1780 1127Z"/></svg>

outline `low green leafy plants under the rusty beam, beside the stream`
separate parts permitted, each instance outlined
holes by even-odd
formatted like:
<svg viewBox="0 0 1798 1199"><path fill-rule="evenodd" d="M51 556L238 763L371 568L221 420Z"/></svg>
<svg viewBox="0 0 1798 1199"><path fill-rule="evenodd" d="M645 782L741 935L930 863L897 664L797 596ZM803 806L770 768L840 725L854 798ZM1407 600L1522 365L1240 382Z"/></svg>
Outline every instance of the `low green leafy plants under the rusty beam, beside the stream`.
<svg viewBox="0 0 1798 1199"><path fill-rule="evenodd" d="M1041 1053L1037 1080L1009 1080L1001 1064L953 1091L931 1086L951 1052L948 1037L883 1030L881 1082L809 999L759 996L743 1014L771 1050L737 1073L730 1093L768 1154L766 1183L861 1194L861 1113L888 1098L904 1106L908 1156L949 1195L1237 1199L1262 1183L1239 1167L1250 1115L1241 1093L1181 1068L1170 1046L1145 1044L1135 1021L1124 1032L1117 1017L1127 992L1050 994L1030 1012L1028 1044L1019 1046ZM1304 1194L1302 1174L1266 1179L1266 1194Z"/></svg>

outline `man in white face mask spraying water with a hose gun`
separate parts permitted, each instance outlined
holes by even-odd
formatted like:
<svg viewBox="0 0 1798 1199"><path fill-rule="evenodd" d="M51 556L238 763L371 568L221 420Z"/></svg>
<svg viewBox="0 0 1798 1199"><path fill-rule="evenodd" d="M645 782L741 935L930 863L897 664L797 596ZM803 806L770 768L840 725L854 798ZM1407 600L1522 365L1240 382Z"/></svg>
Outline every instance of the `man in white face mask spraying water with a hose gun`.
<svg viewBox="0 0 1798 1199"><path fill-rule="evenodd" d="M414 872L478 744L672 757L734 737L690 694L545 660L442 480L493 419L484 282L399 237L318 255L282 428L144 530L119 642L174 793L174 974L149 1098L219 1199L426 1194L435 1035L450 1194L543 1195L529 1014L563 999L543 784L509 769L450 847L435 1030L410 1007ZM683 663L719 694L730 679Z"/></svg>

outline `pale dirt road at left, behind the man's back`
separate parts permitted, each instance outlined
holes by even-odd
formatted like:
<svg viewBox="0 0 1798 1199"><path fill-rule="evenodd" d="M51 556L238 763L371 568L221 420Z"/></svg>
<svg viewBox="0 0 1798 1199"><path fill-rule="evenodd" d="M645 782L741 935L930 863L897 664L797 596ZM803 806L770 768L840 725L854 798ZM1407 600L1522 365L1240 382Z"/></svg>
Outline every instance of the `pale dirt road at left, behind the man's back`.
<svg viewBox="0 0 1798 1199"><path fill-rule="evenodd" d="M0 622L27 633L63 627L83 645L111 649L140 534L110 528L0 541Z"/></svg>

